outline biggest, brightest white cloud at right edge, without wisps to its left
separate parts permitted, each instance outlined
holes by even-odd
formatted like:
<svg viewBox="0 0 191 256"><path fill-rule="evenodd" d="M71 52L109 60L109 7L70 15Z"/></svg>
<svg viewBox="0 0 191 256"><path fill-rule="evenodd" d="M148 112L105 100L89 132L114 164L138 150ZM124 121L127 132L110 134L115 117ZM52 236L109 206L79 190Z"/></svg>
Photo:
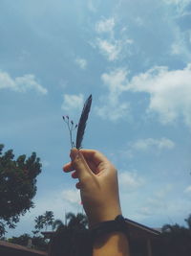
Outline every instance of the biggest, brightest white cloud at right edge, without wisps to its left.
<svg viewBox="0 0 191 256"><path fill-rule="evenodd" d="M182 70L154 67L134 77L127 89L150 95L148 112L156 112L163 124L183 118L191 127L191 64Z"/></svg>

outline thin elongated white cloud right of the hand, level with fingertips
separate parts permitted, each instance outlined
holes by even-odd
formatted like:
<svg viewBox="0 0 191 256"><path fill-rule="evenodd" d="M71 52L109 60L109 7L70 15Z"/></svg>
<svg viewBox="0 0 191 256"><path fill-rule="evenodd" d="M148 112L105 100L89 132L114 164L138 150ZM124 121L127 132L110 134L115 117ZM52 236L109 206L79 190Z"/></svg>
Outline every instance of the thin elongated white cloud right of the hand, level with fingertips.
<svg viewBox="0 0 191 256"><path fill-rule="evenodd" d="M137 151L147 151L152 148L157 148L159 150L167 149L171 150L175 147L175 143L167 138L161 138L161 139L153 139L153 138L147 138L147 139L140 139L136 141L135 143L131 144L131 148L137 150Z"/></svg>

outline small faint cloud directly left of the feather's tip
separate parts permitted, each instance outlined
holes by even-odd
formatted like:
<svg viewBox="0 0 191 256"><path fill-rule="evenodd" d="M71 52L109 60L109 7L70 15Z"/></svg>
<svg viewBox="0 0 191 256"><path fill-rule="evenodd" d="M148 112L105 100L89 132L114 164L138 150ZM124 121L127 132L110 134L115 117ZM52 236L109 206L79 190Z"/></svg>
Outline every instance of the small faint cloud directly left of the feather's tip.
<svg viewBox="0 0 191 256"><path fill-rule="evenodd" d="M64 101L61 106L63 110L74 110L78 108L82 108L83 102L84 102L84 97L80 93L78 95L75 94L64 94L63 95Z"/></svg>

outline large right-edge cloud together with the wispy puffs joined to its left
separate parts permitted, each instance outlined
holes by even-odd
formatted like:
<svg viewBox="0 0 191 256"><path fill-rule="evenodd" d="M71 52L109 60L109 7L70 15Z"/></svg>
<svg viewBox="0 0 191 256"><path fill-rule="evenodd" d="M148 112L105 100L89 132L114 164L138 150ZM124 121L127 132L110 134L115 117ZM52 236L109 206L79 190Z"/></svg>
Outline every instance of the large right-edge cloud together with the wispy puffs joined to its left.
<svg viewBox="0 0 191 256"><path fill-rule="evenodd" d="M97 114L112 121L124 117L130 109L130 102L122 102L119 97L125 92L147 93L149 105L147 113L155 113L161 124L172 124L182 119L191 128L191 64L183 69L168 70L156 66L128 80L128 71L118 68L101 76L108 89L107 96L97 107ZM110 109L117 109L114 116L108 115ZM112 112L112 111L110 111Z"/></svg>

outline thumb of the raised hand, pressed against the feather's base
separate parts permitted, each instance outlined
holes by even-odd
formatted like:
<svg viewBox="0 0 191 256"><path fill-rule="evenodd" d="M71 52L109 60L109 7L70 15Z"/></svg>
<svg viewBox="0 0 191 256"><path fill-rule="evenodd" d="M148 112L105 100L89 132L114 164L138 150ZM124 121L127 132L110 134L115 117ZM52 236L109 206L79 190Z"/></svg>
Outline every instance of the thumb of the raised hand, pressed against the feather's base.
<svg viewBox="0 0 191 256"><path fill-rule="evenodd" d="M90 176L91 170L83 156L83 154L78 151L77 149L72 149L71 150L71 160L72 160L72 165L74 167L74 170L77 172L79 181L84 180L85 177Z"/></svg>

